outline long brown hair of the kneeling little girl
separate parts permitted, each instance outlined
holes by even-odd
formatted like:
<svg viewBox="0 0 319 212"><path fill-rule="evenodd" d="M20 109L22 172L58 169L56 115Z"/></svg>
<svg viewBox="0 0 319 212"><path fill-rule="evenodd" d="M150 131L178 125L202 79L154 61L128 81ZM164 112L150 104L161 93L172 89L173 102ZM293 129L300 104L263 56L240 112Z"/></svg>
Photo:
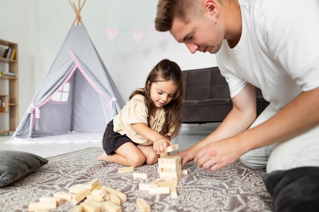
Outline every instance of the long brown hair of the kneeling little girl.
<svg viewBox="0 0 319 212"><path fill-rule="evenodd" d="M171 80L177 86L177 91L172 101L164 106L165 123L161 132L159 132L159 134L165 136L169 133L170 128L175 125L175 129L172 134L172 137L175 137L181 128L181 109L183 105L182 75L179 66L175 62L172 62L169 59L161 60L161 62L159 62L149 73L145 82L145 87L134 90L129 99L138 94L143 95L148 108L148 115L150 115L152 107L155 107L153 101L151 100L150 88L153 82L159 81L159 78L163 78L164 81Z"/></svg>

